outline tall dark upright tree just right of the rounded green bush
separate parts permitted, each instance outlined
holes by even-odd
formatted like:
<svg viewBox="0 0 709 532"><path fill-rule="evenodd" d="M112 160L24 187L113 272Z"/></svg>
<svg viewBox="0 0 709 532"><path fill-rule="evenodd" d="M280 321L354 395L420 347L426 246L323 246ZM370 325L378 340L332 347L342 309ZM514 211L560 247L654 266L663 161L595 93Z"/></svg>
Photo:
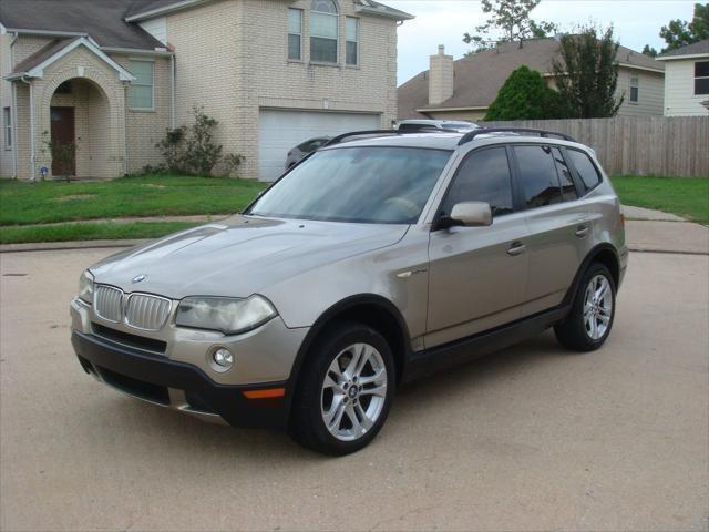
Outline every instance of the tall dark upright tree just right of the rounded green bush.
<svg viewBox="0 0 709 532"><path fill-rule="evenodd" d="M616 100L619 43L613 39L613 27L599 37L596 28L564 35L559 58L552 71L556 88L569 109L571 117L605 119L615 116L624 96Z"/></svg>

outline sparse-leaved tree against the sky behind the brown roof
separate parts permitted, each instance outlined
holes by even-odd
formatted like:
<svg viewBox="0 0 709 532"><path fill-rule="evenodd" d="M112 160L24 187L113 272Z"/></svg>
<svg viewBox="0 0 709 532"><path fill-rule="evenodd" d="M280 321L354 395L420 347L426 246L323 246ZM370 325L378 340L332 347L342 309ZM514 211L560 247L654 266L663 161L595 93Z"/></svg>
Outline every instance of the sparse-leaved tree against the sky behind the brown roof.
<svg viewBox="0 0 709 532"><path fill-rule="evenodd" d="M482 0L483 12L490 18L475 28L475 34L465 33L463 42L473 44L471 53L492 48L501 42L520 42L546 37L556 31L556 24L534 21L530 17L542 0Z"/></svg>

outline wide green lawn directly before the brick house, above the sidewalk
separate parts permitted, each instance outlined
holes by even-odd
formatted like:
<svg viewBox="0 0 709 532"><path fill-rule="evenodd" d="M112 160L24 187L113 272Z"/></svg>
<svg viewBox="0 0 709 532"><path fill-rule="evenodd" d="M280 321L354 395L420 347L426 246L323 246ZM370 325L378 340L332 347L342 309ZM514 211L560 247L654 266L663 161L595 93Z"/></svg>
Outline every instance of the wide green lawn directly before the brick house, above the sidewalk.
<svg viewBox="0 0 709 532"><path fill-rule="evenodd" d="M255 181L174 175L93 183L0 180L0 226L229 214L244 208L265 186Z"/></svg>

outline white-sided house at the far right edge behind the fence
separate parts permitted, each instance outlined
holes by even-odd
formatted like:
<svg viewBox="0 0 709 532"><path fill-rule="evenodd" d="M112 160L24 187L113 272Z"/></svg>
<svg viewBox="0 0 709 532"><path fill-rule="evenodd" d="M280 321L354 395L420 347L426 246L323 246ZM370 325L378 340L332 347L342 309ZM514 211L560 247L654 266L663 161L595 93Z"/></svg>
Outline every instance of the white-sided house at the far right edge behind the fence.
<svg viewBox="0 0 709 532"><path fill-rule="evenodd" d="M709 39L664 53L665 116L709 116Z"/></svg>

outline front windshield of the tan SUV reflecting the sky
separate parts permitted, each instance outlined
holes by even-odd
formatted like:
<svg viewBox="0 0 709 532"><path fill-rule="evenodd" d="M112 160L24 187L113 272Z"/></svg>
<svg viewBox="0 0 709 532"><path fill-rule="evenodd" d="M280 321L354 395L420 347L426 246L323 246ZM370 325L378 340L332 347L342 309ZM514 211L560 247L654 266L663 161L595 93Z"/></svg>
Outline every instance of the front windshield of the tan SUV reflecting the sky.
<svg viewBox="0 0 709 532"><path fill-rule="evenodd" d="M413 224L451 153L384 146L317 152L270 187L245 214Z"/></svg>

